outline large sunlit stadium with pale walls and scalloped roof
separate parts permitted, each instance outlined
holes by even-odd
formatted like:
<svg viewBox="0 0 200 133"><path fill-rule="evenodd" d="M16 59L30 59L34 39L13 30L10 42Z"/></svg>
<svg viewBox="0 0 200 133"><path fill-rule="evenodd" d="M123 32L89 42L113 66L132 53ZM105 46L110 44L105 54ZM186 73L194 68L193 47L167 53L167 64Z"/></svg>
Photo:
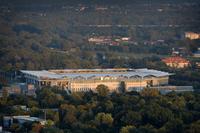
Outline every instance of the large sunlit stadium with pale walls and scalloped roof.
<svg viewBox="0 0 200 133"><path fill-rule="evenodd" d="M95 91L100 84L118 91L121 82L127 91L147 86L167 85L169 73L151 69L64 69L48 71L21 70L27 84L59 86L70 92Z"/></svg>

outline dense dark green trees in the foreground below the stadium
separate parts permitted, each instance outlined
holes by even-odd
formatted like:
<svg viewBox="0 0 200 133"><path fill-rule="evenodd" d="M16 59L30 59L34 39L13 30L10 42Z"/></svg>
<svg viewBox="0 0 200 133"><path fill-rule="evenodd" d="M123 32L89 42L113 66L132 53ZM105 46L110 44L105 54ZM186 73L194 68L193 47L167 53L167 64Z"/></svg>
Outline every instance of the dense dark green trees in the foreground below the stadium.
<svg viewBox="0 0 200 133"><path fill-rule="evenodd" d="M47 105L46 118L48 124L25 123L22 126L14 124L10 131L25 132L198 132L200 94L170 93L144 97L138 93L125 92L100 96L96 93L74 93L64 96L55 88L38 90L37 98L29 96L8 96L6 105L1 105L2 115L23 115L43 117L43 104L47 96L62 94L60 99L54 99L54 106ZM50 93L50 95L49 95ZM51 94L52 93L52 94ZM40 96L40 97L39 97ZM75 100L78 98L78 100ZM19 101L18 101L19 100ZM77 102L78 101L78 102ZM30 106L24 111L12 106L19 102ZM51 108L58 110L51 110ZM52 124L54 123L54 124ZM58 129L59 128L59 129Z"/></svg>

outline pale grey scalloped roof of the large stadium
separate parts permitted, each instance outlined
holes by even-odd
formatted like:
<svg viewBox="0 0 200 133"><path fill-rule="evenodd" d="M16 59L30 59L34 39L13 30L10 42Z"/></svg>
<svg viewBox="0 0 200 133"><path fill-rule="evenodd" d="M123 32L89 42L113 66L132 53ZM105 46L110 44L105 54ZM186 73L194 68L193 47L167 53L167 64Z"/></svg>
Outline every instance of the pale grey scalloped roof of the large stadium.
<svg viewBox="0 0 200 133"><path fill-rule="evenodd" d="M162 72L153 69L62 69L62 70L42 70L29 71L21 70L23 74L35 76L37 78L63 79L63 78L90 78L90 77L162 77L171 75L168 72Z"/></svg>

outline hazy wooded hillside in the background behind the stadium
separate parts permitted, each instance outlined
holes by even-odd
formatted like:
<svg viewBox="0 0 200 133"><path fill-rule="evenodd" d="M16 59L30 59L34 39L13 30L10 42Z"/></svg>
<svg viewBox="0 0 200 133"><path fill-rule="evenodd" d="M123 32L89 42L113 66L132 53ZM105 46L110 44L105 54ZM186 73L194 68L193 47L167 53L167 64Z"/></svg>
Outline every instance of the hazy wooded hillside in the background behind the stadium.
<svg viewBox="0 0 200 133"><path fill-rule="evenodd" d="M189 49L183 35L200 31L199 3L0 0L0 69L147 67L148 60L158 61L173 47ZM93 36L131 41L92 45Z"/></svg>

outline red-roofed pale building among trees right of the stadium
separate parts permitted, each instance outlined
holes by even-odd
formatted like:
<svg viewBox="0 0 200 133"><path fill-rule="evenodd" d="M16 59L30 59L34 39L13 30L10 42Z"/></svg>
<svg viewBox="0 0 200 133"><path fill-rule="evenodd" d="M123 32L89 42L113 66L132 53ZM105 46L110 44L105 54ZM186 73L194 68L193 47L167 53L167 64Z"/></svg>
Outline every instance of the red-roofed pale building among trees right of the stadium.
<svg viewBox="0 0 200 133"><path fill-rule="evenodd" d="M168 57L165 59L162 59L162 61L169 67L172 68L186 68L190 66L190 62L180 56L174 56L174 57Z"/></svg>

